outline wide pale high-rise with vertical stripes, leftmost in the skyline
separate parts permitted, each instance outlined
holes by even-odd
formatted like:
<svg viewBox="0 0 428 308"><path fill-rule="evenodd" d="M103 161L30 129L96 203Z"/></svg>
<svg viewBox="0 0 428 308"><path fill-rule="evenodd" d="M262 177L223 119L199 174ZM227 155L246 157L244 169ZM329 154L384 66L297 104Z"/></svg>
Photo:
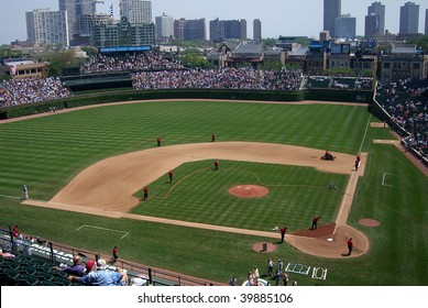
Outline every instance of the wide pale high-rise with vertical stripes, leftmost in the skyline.
<svg viewBox="0 0 428 308"><path fill-rule="evenodd" d="M31 45L68 46L68 21L66 11L39 9L25 13L28 42Z"/></svg>

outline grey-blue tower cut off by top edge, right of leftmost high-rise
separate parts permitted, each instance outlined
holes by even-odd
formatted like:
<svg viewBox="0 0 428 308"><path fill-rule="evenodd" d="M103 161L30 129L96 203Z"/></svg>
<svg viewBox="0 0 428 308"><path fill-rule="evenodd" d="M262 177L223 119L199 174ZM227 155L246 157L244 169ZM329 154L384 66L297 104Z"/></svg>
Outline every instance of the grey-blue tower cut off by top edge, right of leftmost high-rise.
<svg viewBox="0 0 428 308"><path fill-rule="evenodd" d="M58 7L61 12L67 12L68 37L70 40L80 34L79 16L96 12L95 0L58 0Z"/></svg>

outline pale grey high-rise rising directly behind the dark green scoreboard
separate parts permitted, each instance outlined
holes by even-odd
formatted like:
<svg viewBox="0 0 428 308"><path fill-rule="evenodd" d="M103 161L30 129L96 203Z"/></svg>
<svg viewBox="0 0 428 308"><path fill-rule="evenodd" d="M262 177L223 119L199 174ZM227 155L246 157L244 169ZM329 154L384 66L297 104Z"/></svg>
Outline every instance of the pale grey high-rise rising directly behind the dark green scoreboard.
<svg viewBox="0 0 428 308"><path fill-rule="evenodd" d="M120 0L120 16L130 23L152 23L152 1Z"/></svg>

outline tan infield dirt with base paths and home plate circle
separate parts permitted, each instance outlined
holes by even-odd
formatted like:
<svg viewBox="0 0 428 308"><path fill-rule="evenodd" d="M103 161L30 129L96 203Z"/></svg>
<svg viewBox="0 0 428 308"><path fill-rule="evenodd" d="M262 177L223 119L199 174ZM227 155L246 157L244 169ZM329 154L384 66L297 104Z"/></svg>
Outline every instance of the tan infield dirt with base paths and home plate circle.
<svg viewBox="0 0 428 308"><path fill-rule="evenodd" d="M323 150L319 148L253 142L210 142L161 146L98 162L78 174L51 201L28 200L24 204L279 239L279 234L272 231L224 228L128 212L140 204L140 199L133 196L136 191L187 162L230 160L311 166L320 172L348 174L351 176L350 182L334 221L334 228L329 234L326 235L321 232L323 228L319 228L308 230L309 232L306 233L287 234L286 242L308 254L343 257L347 253L347 241L353 238L355 253L351 257L361 255L369 250L369 240L363 233L349 227L347 221L358 178L364 174L367 155L361 154L361 166L359 170L354 170L352 166L355 157L353 155L334 153L337 158L334 162L329 162L320 160L322 154Z"/></svg>

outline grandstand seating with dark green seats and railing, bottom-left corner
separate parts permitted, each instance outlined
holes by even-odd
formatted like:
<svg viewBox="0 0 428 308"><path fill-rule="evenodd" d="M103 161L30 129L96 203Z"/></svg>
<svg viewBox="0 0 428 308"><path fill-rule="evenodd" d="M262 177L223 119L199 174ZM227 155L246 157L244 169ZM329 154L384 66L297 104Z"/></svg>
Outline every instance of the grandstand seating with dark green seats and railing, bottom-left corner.
<svg viewBox="0 0 428 308"><path fill-rule="evenodd" d="M79 286L69 282L68 274L53 268L54 266L72 265L73 256L78 254L85 262L89 260L109 260L108 256L41 240L35 237L14 238L11 231L0 229L1 250L10 252L14 257L0 258L0 285L2 286ZM161 268L147 267L141 264L118 261L108 263L105 271L116 271L120 265L127 270L131 285L134 278L142 278L144 285L152 286L209 286L218 283L167 272Z"/></svg>

